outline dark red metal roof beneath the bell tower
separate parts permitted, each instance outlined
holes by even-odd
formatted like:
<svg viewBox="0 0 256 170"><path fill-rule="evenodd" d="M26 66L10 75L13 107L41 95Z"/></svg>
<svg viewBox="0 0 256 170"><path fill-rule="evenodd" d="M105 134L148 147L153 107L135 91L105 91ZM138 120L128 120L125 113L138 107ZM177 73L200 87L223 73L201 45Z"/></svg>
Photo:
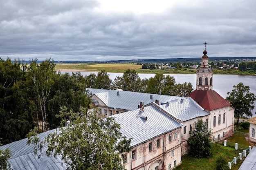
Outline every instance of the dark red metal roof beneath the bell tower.
<svg viewBox="0 0 256 170"><path fill-rule="evenodd" d="M205 110L215 110L227 106L231 106L231 104L221 97L216 91L193 91L189 97L195 100L202 108Z"/></svg>

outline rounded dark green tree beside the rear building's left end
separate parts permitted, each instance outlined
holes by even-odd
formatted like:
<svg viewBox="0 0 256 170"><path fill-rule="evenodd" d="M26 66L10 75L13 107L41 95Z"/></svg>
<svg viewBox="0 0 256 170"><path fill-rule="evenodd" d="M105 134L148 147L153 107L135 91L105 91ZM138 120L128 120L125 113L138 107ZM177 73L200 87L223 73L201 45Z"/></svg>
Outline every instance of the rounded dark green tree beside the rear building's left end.
<svg viewBox="0 0 256 170"><path fill-rule="evenodd" d="M86 91L86 79L81 73L58 73L52 86L52 99L47 104L47 128L53 129L59 126L60 119L56 118L61 106L79 112L80 106L89 107L91 102Z"/></svg>

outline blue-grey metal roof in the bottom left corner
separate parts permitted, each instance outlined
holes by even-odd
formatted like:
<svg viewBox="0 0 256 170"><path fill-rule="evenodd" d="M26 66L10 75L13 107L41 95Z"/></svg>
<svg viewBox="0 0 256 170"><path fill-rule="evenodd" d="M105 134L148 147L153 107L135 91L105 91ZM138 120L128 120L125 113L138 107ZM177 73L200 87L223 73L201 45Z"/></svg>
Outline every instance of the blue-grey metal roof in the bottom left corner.
<svg viewBox="0 0 256 170"><path fill-rule="evenodd" d="M40 140L47 137L48 134L53 133L56 129L49 130L38 134ZM47 157L45 151L47 146L42 151L38 151L34 154L34 145L27 145L27 138L14 141L10 144L0 146L0 150L9 148L11 150L11 158L9 163L11 168L15 170L65 170L67 166L65 163L61 165L61 157L58 155L56 159L54 157ZM38 156L40 158L38 159Z"/></svg>

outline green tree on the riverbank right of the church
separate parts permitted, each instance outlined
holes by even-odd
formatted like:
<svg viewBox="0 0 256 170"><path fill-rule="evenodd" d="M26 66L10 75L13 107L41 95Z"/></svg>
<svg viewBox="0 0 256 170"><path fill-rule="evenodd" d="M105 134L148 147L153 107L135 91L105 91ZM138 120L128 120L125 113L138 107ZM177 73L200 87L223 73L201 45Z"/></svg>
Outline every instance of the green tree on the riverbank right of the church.
<svg viewBox="0 0 256 170"><path fill-rule="evenodd" d="M239 126L239 117L252 116L256 96L254 93L250 93L250 87L245 86L242 82L233 87L232 92L227 92L226 100L235 108L235 117L237 118L237 126Z"/></svg>

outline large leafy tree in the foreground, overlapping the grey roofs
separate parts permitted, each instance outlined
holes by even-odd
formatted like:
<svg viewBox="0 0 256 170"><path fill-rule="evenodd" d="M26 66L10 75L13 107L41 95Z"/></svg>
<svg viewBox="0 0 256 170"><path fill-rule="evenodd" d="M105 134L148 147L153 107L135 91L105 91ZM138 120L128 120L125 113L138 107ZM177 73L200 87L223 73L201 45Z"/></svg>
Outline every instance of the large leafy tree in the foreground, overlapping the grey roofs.
<svg viewBox="0 0 256 170"><path fill-rule="evenodd" d="M47 156L62 155L62 161L71 170L123 170L119 155L131 150L131 139L122 136L114 118L99 119L96 112L86 117L86 110L81 107L79 113L74 113L67 112L66 107L61 109L59 115L68 115L72 124L56 129L43 141L48 144ZM29 132L28 144L34 143L42 149L36 134L33 130Z"/></svg>

